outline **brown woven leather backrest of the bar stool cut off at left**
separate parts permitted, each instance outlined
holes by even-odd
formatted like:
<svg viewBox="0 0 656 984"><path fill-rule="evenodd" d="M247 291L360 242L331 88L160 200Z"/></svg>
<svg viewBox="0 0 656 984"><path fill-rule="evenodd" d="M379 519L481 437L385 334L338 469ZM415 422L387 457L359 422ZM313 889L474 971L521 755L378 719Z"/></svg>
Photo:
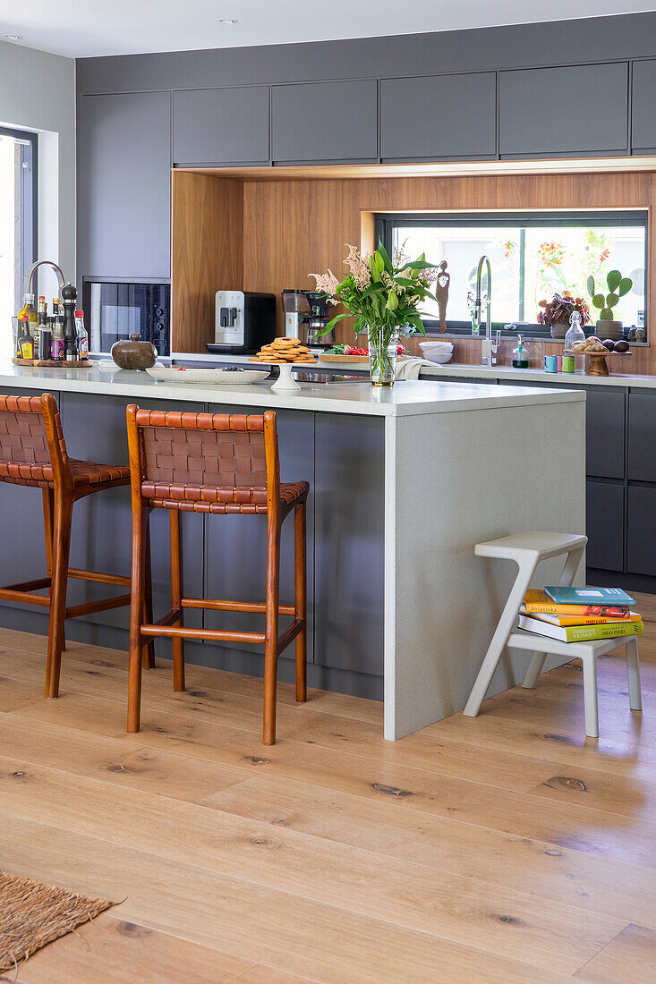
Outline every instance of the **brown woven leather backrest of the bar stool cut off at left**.
<svg viewBox="0 0 656 984"><path fill-rule="evenodd" d="M59 414L55 431L65 457ZM50 464L50 451L40 397L0 397L0 461L13 464Z"/></svg>

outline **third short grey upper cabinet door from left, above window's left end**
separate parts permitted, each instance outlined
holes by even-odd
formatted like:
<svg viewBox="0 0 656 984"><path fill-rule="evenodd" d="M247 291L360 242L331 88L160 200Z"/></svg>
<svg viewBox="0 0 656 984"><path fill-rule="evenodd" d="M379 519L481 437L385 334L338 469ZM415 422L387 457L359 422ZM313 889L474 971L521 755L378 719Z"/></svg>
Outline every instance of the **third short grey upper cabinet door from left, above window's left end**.
<svg viewBox="0 0 656 984"><path fill-rule="evenodd" d="M383 79L380 83L380 155L493 157L496 154L494 72Z"/></svg>

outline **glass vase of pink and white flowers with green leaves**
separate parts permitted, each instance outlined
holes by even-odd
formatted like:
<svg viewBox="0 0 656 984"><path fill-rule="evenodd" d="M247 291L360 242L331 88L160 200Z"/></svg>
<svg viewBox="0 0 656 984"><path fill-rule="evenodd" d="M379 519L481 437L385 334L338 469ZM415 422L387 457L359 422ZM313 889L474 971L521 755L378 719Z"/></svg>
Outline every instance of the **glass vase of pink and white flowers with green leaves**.
<svg viewBox="0 0 656 984"><path fill-rule="evenodd" d="M332 331L344 318L355 317L356 336L361 332L367 335L371 382L374 386L392 386L401 330L426 335L419 308L426 298L435 299L429 288L436 268L426 263L424 253L417 260L409 260L399 250L392 262L381 242L370 255L362 255L356 246L348 248L344 262L350 273L342 281L332 270L309 275L332 304L346 308L328 322L322 334Z"/></svg>

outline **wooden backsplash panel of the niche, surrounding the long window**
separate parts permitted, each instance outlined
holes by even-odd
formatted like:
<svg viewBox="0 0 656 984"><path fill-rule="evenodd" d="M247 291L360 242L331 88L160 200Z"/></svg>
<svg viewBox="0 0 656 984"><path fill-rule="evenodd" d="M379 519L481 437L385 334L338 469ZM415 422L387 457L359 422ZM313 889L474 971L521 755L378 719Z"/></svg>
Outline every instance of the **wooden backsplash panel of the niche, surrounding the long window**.
<svg viewBox="0 0 656 984"><path fill-rule="evenodd" d="M194 180L205 177L200 174L188 176ZM233 178L210 177L209 180L234 184ZM376 212L649 209L648 310L656 311L656 277L652 276L656 264L656 234L651 222L651 209L656 205L656 177L650 171L283 181L246 179L242 194L241 241L235 236L234 246L230 241L231 255L227 255L226 241L214 240L221 258L215 264L219 279L215 277L212 292L219 286L230 286L225 282L226 277L236 276L241 269L245 290L276 294L279 334L283 333L281 291L285 287L312 289L314 280L308 274L321 273L328 268L337 277L343 276L346 244L359 244L363 234L370 240L370 215L363 214ZM236 192L230 192L230 200L235 195ZM230 215L235 215L233 208ZM214 232L210 230L208 234L217 237L224 224L220 222ZM209 247L209 242L206 246ZM174 257L175 252L174 249ZM239 263L242 263L241 268ZM338 338L343 341L353 338L350 322L338 326ZM631 359L630 371L656 373L656 356L652 358L651 351L643 349L645 354L640 352L639 356L636 352Z"/></svg>

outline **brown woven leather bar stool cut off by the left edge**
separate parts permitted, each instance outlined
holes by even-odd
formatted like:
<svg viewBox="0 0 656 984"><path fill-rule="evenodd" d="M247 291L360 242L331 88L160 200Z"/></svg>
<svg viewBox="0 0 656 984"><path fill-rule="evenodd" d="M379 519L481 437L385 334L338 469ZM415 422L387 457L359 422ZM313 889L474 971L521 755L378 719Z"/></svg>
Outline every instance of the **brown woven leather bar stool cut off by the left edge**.
<svg viewBox="0 0 656 984"><path fill-rule="evenodd" d="M65 646L66 619L119 608L130 603L124 593L98 601L66 607L69 578L102 584L129 586L130 579L68 566L73 506L85 496L127 485L125 465L98 464L69 458L57 409L50 393L40 397L0 397L0 481L31 485L42 490L47 576L22 584L0 587L0 598L50 609L45 696L59 694L61 653ZM47 595L37 594L48 588ZM145 574L144 611L152 611L150 567ZM146 617L152 615L146 614ZM155 665L153 641L144 647L144 665Z"/></svg>

